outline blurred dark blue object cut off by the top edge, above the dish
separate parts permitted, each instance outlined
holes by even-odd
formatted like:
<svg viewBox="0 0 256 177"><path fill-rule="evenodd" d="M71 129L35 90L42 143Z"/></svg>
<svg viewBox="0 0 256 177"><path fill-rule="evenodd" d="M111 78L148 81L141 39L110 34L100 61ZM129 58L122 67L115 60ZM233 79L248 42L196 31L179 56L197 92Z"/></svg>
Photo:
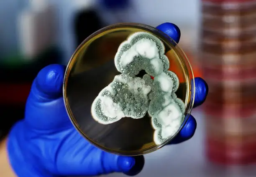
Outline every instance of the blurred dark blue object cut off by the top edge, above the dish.
<svg viewBox="0 0 256 177"><path fill-rule="evenodd" d="M100 0L103 7L108 9L123 9L130 6L130 0Z"/></svg>

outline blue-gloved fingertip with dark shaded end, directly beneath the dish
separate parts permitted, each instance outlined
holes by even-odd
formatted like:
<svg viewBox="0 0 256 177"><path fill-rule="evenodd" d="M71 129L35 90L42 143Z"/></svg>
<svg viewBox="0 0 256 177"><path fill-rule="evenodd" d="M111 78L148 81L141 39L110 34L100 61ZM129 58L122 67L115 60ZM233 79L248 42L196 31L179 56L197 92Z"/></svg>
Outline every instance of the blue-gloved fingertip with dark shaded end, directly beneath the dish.
<svg viewBox="0 0 256 177"><path fill-rule="evenodd" d="M118 166L125 175L134 176L141 172L144 166L145 160L144 157L135 156L135 157L118 157Z"/></svg>

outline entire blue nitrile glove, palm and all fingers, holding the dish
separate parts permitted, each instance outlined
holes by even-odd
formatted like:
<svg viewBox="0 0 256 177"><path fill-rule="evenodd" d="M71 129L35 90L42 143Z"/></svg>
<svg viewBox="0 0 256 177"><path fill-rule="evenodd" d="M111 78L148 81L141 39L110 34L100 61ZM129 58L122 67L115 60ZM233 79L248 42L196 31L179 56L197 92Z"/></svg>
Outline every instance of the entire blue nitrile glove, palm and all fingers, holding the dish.
<svg viewBox="0 0 256 177"><path fill-rule="evenodd" d="M158 28L179 41L176 25L164 23ZM49 65L33 81L25 119L12 127L8 137L8 154L15 173L19 177L138 174L144 165L143 156L123 157L103 152L74 128L62 97L64 70L63 65ZM195 84L195 106L198 106L205 101L208 90L201 78L196 78ZM188 140L195 129L195 118L190 116L172 143Z"/></svg>

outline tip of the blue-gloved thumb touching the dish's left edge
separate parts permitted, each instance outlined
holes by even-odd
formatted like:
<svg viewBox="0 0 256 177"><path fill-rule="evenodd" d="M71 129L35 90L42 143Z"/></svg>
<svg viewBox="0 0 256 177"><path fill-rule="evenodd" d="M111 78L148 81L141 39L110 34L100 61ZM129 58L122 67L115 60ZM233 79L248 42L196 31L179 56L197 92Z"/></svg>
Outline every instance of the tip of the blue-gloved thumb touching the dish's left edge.
<svg viewBox="0 0 256 177"><path fill-rule="evenodd" d="M35 79L37 91L49 97L61 95L64 72L64 65L53 64L44 67Z"/></svg>

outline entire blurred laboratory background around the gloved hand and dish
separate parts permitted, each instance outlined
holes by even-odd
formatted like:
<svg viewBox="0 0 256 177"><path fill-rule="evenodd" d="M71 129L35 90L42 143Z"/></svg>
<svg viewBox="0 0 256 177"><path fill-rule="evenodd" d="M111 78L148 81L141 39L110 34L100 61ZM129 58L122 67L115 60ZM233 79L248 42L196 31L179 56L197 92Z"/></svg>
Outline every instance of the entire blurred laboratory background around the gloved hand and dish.
<svg viewBox="0 0 256 177"><path fill-rule="evenodd" d="M192 111L195 136L146 155L137 176L256 177L256 0L0 0L0 136L23 118L41 68L66 65L87 36L118 22L179 26L179 46L209 85Z"/></svg>

